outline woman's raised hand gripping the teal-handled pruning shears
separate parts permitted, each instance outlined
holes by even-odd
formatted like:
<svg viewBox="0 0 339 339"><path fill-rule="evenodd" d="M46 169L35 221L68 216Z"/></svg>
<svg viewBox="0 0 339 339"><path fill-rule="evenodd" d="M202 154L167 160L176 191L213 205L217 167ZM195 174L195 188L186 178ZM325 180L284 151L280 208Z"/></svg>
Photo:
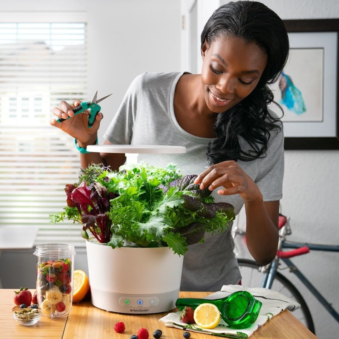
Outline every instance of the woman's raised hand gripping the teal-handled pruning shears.
<svg viewBox="0 0 339 339"><path fill-rule="evenodd" d="M103 115L99 112L95 117L93 126L89 128L87 114L79 113L74 115L74 112L72 111L74 107L77 107L80 104L80 100L74 100L73 105L70 105L64 100L60 101L59 107L54 107L52 110L52 113L56 118L51 119L49 123L77 139L80 147L85 147L87 145L93 145L96 142L97 132ZM71 118L67 119L68 117ZM57 118L66 120L57 122Z"/></svg>

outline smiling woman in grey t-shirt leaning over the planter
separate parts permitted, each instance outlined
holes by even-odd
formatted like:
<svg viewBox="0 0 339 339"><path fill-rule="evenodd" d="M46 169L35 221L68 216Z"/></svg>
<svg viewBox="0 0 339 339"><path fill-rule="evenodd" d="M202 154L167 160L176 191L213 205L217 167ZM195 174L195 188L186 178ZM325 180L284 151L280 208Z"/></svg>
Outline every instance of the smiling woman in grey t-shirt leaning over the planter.
<svg viewBox="0 0 339 339"><path fill-rule="evenodd" d="M271 262L278 243L282 197L282 124L267 105L267 84L277 80L288 55L281 19L259 2L230 2L219 7L201 34L201 74L144 73L129 87L109 125L105 144L179 145L186 154L139 155L153 165L179 165L182 174L199 174L195 183L209 187L216 201L246 211L247 246L254 259ZM57 117L73 117L62 101ZM102 119L87 128L76 115L53 126L76 139L84 151L95 144ZM105 163L118 169L123 154L81 154L82 167ZM183 291L218 291L241 280L230 230L189 246L184 257Z"/></svg>

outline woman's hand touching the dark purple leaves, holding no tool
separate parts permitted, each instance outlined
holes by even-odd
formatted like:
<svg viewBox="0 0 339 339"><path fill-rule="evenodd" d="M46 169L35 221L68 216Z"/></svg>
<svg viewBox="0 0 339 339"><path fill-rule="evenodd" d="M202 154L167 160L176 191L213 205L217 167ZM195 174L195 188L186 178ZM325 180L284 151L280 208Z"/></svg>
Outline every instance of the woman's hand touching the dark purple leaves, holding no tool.
<svg viewBox="0 0 339 339"><path fill-rule="evenodd" d="M223 187L222 190L218 190L218 194L239 194L245 202L262 200L258 186L233 160L223 161L208 167L198 175L194 183L200 184L202 190L208 187L209 190L213 191L218 187Z"/></svg>

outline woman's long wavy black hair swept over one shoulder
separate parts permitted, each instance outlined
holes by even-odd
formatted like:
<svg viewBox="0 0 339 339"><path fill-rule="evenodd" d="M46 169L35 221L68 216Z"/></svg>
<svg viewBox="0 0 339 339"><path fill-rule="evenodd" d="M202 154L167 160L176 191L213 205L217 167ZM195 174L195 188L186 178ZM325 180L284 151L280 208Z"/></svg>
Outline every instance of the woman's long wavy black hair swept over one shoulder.
<svg viewBox="0 0 339 339"><path fill-rule="evenodd" d="M224 36L255 43L267 55L267 65L251 94L226 113L217 115L216 138L207 148L210 164L265 157L269 131L282 128L280 120L268 111L267 105L274 102L274 97L267 85L279 78L287 61L289 43L284 23L260 2L229 2L216 9L208 19L201 33L201 47L205 41L210 44ZM241 149L239 136L250 145L249 150Z"/></svg>

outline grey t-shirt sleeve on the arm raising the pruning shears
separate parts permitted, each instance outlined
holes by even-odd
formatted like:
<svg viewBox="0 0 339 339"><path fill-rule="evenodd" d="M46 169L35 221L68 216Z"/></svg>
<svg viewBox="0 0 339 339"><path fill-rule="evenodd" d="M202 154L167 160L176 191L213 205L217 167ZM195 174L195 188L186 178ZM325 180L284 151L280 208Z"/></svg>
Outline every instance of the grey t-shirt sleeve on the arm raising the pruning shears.
<svg viewBox="0 0 339 339"><path fill-rule="evenodd" d="M133 136L143 74L129 85L117 113L109 124L104 138L112 144L128 145Z"/></svg>

